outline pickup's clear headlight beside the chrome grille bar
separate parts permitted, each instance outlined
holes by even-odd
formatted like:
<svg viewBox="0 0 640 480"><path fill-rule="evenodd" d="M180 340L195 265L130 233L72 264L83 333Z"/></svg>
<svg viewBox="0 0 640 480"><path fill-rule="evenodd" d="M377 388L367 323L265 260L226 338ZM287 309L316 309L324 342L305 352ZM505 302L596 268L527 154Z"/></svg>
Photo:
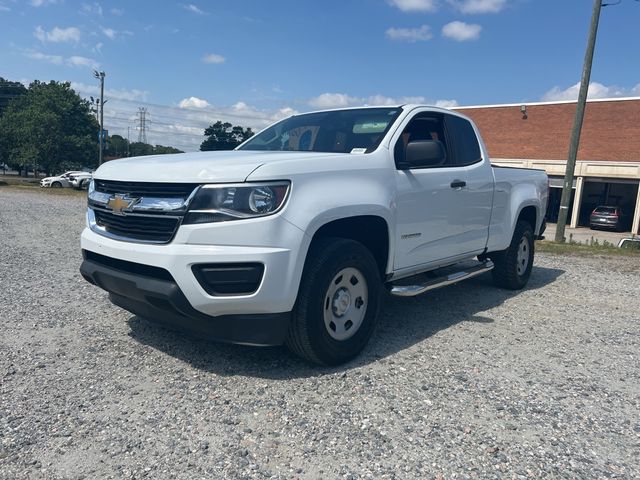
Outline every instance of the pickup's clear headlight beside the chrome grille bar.
<svg viewBox="0 0 640 480"><path fill-rule="evenodd" d="M204 185L189 205L183 224L226 222L264 217L284 205L289 182Z"/></svg>

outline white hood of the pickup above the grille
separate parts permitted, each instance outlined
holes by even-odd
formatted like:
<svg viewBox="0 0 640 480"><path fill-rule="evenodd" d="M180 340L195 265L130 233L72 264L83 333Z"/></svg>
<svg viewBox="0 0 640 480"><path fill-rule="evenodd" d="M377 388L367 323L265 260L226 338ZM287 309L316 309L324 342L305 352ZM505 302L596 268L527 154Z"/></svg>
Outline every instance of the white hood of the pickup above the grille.
<svg viewBox="0 0 640 480"><path fill-rule="evenodd" d="M98 168L93 177L124 182L244 182L251 172L264 164L333 156L336 154L245 150L150 155L111 160Z"/></svg>

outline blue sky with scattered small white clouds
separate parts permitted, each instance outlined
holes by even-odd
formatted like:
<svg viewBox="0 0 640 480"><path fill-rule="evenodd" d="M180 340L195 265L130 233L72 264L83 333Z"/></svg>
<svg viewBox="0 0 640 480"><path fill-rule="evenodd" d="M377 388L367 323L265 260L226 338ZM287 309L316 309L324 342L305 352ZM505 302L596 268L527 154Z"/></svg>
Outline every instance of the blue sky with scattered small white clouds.
<svg viewBox="0 0 640 480"><path fill-rule="evenodd" d="M618 0L604 0L617 3ZM197 149L217 119L259 129L362 104L577 96L591 0L0 0L0 76L96 95L105 128ZM591 97L640 96L640 2L602 9Z"/></svg>

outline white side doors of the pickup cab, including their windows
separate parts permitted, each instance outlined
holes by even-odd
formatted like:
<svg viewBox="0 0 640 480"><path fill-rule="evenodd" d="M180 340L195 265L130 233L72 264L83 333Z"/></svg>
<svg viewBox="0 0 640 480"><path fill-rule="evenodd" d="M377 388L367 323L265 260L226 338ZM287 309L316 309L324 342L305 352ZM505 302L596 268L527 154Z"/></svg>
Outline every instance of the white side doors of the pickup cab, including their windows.
<svg viewBox="0 0 640 480"><path fill-rule="evenodd" d="M450 118L455 117L455 118ZM478 175L477 152L464 136L464 121L441 112L415 114L394 144L397 185L397 225L394 270L443 263L484 250L493 193L491 167ZM411 142L440 142L444 159L437 164L403 164ZM465 153L466 152L466 153ZM475 162L469 155L477 153ZM458 161L459 160L459 161ZM487 175L488 171L488 175Z"/></svg>

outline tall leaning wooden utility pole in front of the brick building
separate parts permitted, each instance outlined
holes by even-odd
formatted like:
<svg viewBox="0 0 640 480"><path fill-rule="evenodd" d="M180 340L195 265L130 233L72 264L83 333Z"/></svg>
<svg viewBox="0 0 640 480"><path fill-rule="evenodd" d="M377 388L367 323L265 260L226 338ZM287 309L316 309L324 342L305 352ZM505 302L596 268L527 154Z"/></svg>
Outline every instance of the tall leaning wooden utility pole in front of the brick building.
<svg viewBox="0 0 640 480"><path fill-rule="evenodd" d="M580 80L580 93L578 94L578 104L576 106L576 115L573 119L573 130L571 130L571 142L569 144L569 158L567 159L567 169L564 174L564 183L562 184L562 197L560 199L560 212L558 214L558 224L556 225L556 242L564 242L564 230L567 226L567 215L569 213L569 202L571 200L571 192L573 190L573 174L576 168L576 158L578 156L578 147L580 146L580 132L582 130L582 121L584 119L584 109L587 103L587 92L589 90L589 81L591 79L591 64L593 63L593 51L596 46L596 35L598 33L598 21L600 20L600 8L602 0L593 2L593 13L591 14L591 28L589 29L589 40L587 42L587 51L584 55L584 64L582 66L582 79Z"/></svg>

